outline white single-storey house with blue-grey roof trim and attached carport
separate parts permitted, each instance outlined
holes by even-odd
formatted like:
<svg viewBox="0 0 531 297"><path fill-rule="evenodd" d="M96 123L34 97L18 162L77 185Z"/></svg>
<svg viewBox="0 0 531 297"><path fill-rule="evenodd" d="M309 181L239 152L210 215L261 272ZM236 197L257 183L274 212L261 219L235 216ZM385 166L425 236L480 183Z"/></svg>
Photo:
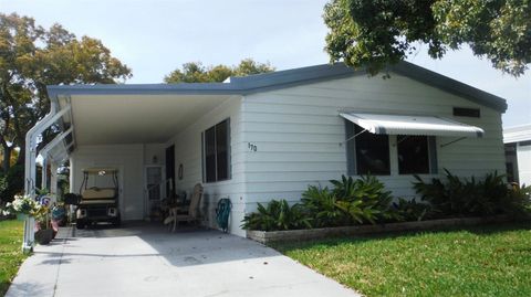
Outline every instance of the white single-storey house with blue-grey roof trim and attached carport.
<svg viewBox="0 0 531 297"><path fill-rule="evenodd" d="M226 83L49 86L53 110L39 125L65 132L45 159L70 159L74 192L83 168L119 168L123 220L146 218L149 194L189 195L202 182L204 223L216 226L217 201L230 198L238 235L257 202L298 201L342 174L371 172L413 197L414 173L504 170L504 99L406 62L389 74L334 64Z"/></svg>

